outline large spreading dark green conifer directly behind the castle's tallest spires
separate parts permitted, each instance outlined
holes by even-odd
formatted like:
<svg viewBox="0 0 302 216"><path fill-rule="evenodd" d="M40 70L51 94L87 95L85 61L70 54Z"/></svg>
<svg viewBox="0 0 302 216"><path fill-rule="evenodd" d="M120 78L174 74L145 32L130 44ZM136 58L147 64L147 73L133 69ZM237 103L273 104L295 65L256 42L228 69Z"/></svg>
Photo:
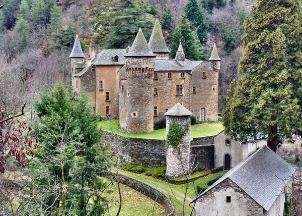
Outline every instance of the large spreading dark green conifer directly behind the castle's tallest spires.
<svg viewBox="0 0 302 216"><path fill-rule="evenodd" d="M119 0L119 16L113 21L112 32L108 35L107 48L125 48L131 45L139 27L146 39L151 35L154 19L148 17L149 9L141 9L134 0Z"/></svg>

